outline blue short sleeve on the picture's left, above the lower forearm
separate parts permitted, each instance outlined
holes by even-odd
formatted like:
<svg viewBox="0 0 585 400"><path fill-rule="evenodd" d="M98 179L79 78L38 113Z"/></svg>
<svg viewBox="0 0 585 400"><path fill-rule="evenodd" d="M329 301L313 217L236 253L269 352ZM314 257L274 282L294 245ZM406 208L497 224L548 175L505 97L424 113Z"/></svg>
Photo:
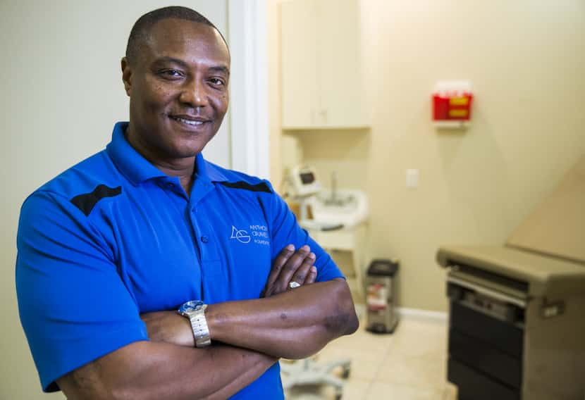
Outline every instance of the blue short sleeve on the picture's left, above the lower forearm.
<svg viewBox="0 0 585 400"><path fill-rule="evenodd" d="M58 390L58 377L148 339L113 252L68 199L32 194L20 212L17 247L20 322L45 392Z"/></svg>

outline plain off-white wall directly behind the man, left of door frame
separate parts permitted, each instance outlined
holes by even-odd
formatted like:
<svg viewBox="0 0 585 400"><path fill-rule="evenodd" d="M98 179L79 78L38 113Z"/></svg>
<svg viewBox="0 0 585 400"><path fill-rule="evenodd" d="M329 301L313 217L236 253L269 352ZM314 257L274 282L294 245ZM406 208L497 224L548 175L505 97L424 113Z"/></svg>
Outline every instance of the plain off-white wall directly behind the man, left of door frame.
<svg viewBox="0 0 585 400"><path fill-rule="evenodd" d="M227 1L173 1L227 32ZM104 148L113 123L128 119L120 59L130 28L165 1L0 1L0 399L42 395L16 305L16 227L25 196ZM227 122L227 120L226 120ZM224 123L224 125L229 125ZM226 126L204 153L229 166Z"/></svg>

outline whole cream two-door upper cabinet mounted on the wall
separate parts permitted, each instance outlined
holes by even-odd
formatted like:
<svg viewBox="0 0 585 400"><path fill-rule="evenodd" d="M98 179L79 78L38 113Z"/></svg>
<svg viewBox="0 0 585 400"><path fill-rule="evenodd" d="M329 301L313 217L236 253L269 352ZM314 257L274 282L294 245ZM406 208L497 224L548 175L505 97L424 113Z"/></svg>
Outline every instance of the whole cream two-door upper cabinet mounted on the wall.
<svg viewBox="0 0 585 400"><path fill-rule="evenodd" d="M359 21L359 0L283 2L283 129L369 126Z"/></svg>

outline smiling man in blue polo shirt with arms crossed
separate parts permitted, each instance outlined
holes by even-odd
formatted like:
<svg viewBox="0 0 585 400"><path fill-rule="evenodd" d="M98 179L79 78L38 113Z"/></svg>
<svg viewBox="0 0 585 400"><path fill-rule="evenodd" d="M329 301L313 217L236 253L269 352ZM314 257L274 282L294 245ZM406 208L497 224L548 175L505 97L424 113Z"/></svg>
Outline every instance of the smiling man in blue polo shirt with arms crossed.
<svg viewBox="0 0 585 400"><path fill-rule="evenodd" d="M345 280L268 182L204 161L228 108L214 25L147 13L121 66L129 123L20 215L18 304L42 387L282 399L278 358L357 329Z"/></svg>

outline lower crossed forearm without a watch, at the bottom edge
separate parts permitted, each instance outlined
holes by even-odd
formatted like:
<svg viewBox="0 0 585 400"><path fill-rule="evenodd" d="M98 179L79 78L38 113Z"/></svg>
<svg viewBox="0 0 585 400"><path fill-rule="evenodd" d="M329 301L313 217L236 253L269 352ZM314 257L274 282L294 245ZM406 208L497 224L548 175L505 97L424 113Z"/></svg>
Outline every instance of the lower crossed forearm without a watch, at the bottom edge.
<svg viewBox="0 0 585 400"><path fill-rule="evenodd" d="M61 377L68 399L226 399L276 358L233 346L135 342Z"/></svg>

